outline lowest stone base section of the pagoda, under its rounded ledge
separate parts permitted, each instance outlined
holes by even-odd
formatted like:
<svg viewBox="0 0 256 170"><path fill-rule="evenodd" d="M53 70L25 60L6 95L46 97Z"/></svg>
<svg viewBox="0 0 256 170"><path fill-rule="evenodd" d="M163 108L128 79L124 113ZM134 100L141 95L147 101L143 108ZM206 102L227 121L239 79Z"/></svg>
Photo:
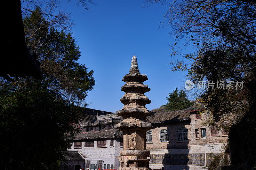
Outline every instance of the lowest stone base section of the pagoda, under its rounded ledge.
<svg viewBox="0 0 256 170"><path fill-rule="evenodd" d="M148 156L120 156L120 170L150 170Z"/></svg>

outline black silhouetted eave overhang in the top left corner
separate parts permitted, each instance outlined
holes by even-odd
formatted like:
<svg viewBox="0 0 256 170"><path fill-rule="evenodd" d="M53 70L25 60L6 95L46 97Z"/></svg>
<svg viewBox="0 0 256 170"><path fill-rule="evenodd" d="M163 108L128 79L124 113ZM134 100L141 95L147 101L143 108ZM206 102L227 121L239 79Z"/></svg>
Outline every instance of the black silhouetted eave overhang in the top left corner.
<svg viewBox="0 0 256 170"><path fill-rule="evenodd" d="M32 76L42 79L40 63L36 60L36 53L29 52L25 42L24 26L21 14L20 1L3 1L2 23L4 33L1 45L2 57L0 58L0 76L11 81L9 77ZM3 52L6 52L4 54ZM4 55L3 55L4 54Z"/></svg>

